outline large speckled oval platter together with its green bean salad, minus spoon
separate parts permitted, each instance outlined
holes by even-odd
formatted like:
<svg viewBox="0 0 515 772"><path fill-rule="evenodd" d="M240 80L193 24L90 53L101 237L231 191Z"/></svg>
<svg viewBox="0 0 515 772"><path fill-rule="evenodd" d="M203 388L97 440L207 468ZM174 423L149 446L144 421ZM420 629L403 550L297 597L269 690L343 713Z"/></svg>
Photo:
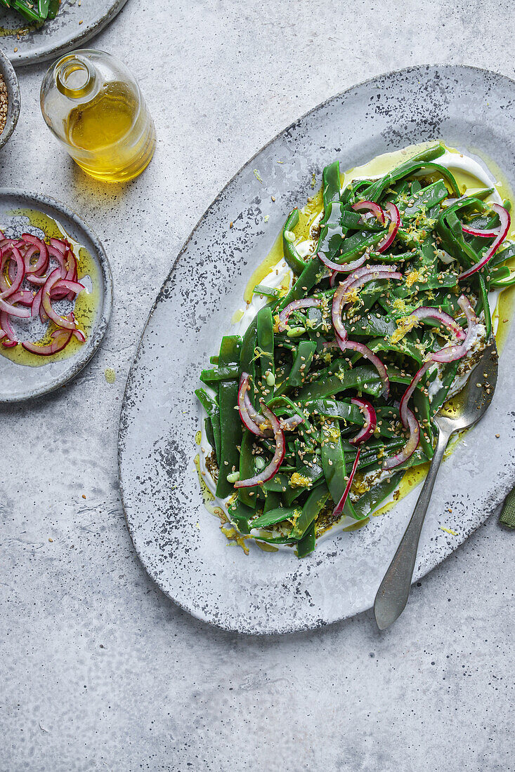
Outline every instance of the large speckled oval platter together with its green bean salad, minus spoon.
<svg viewBox="0 0 515 772"><path fill-rule="evenodd" d="M120 431L131 537L183 608L258 633L370 608L435 412L491 334L496 396L442 466L414 579L515 481L513 105L474 68L378 77L276 137L197 225Z"/></svg>

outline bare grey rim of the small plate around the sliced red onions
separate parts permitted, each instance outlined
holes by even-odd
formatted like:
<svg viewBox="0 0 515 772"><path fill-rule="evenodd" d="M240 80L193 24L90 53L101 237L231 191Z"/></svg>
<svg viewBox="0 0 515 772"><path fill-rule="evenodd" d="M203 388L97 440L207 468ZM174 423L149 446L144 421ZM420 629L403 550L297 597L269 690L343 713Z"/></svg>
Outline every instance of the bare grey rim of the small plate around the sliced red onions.
<svg viewBox="0 0 515 772"><path fill-rule="evenodd" d="M113 296L111 266L97 235L80 219L79 215L53 198L0 188L0 228L5 228L6 235L30 232L41 238L42 232L30 225L25 216L12 214L14 210L23 208L35 209L37 212L49 215L60 222L72 239L86 247L96 263L101 286L92 329L77 354L60 361L51 361L51 357L48 359L45 357L44 364L40 367L15 364L0 355L0 404L49 394L50 391L74 378L100 346L111 316Z"/></svg>

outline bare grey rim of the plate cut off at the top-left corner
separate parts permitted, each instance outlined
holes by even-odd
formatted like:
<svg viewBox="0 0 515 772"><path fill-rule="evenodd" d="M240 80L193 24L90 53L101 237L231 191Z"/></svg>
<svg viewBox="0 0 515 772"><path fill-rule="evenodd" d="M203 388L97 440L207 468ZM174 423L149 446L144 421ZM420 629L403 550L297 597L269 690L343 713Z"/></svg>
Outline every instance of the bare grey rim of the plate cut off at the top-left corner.
<svg viewBox="0 0 515 772"><path fill-rule="evenodd" d="M39 29L17 39L15 34L0 36L2 48L14 66L57 59L63 53L82 48L121 11L127 0L62 0L60 12ZM81 22L81 23L80 23ZM8 8L0 9L0 30L30 26ZM17 49L15 51L15 49Z"/></svg>

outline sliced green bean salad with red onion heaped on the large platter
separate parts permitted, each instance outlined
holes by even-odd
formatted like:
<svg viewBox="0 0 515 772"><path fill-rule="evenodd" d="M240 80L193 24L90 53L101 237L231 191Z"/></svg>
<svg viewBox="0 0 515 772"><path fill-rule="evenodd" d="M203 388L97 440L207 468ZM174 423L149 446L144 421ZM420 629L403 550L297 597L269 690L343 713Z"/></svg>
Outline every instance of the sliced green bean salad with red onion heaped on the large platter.
<svg viewBox="0 0 515 772"><path fill-rule="evenodd" d="M329 164L312 249L294 209L285 285L255 286L261 307L202 371L206 469L240 537L305 557L431 460L435 414L493 334L489 293L515 283L510 201L460 189L444 153L345 185Z"/></svg>

